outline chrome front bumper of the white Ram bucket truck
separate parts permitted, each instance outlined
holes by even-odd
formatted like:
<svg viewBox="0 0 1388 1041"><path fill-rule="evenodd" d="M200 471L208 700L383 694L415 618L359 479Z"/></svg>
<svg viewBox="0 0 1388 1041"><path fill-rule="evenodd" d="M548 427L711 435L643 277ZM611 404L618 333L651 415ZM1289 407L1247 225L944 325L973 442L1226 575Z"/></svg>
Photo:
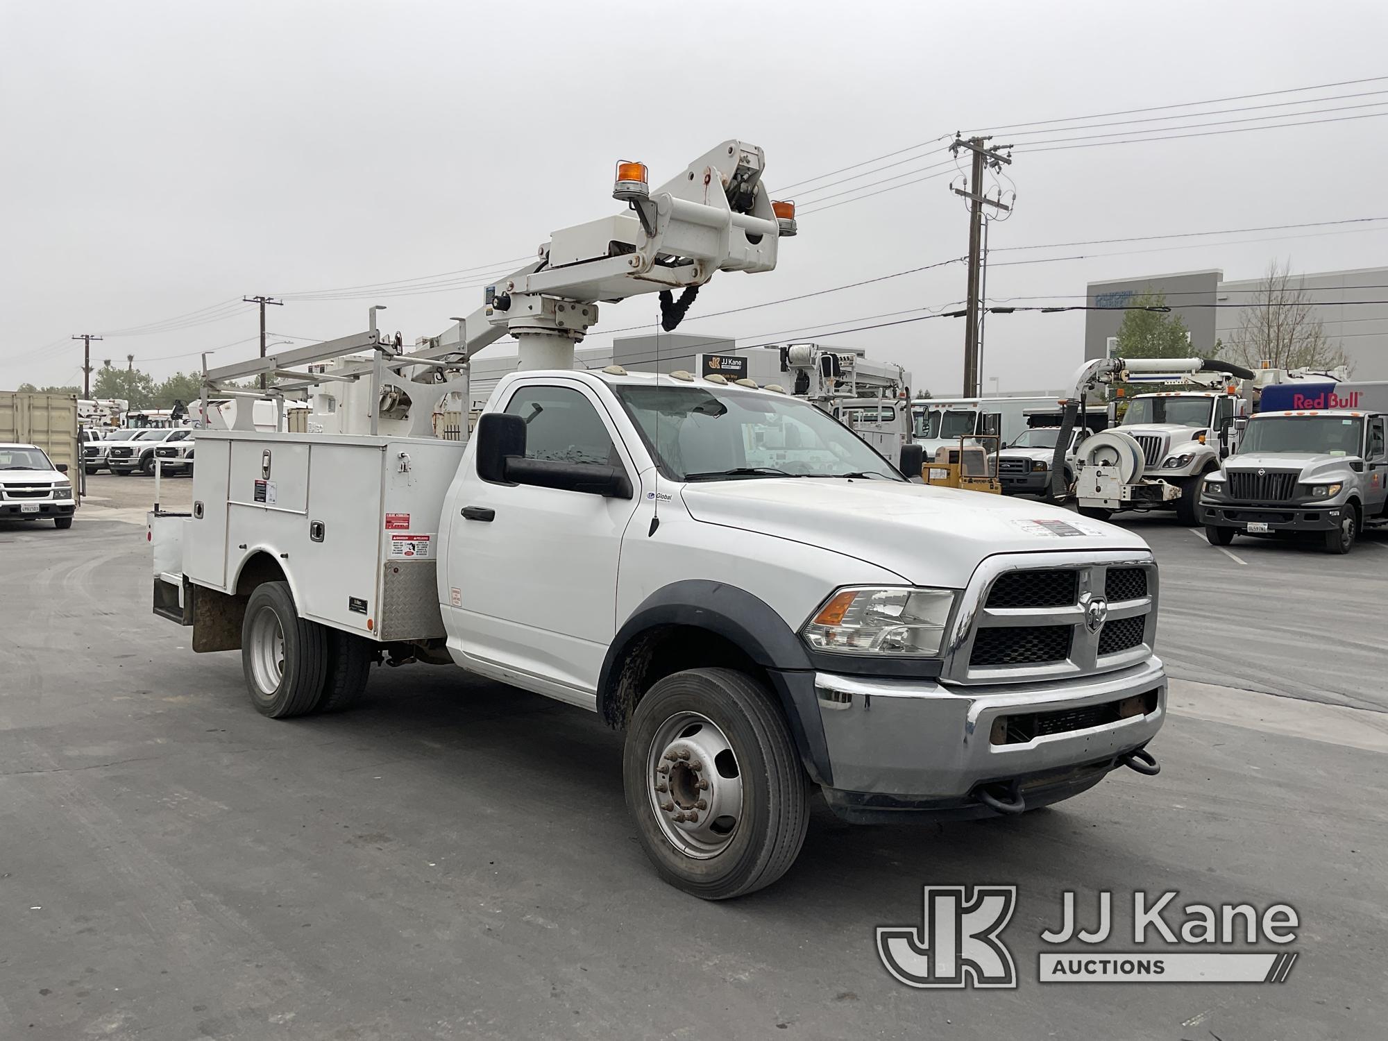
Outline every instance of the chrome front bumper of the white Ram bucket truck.
<svg viewBox="0 0 1388 1041"><path fill-rule="evenodd" d="M990 816L979 790L1012 781L1029 806L1069 798L1151 741L1166 719L1166 675L1155 657L1048 683L956 686L818 673L815 691L833 770L824 797L849 820ZM1146 711L1117 718L1117 702L1144 695ZM1004 716L1009 723L995 729ZM1017 740L1029 727L1035 734ZM1006 731L1004 743L995 743L995 730Z"/></svg>

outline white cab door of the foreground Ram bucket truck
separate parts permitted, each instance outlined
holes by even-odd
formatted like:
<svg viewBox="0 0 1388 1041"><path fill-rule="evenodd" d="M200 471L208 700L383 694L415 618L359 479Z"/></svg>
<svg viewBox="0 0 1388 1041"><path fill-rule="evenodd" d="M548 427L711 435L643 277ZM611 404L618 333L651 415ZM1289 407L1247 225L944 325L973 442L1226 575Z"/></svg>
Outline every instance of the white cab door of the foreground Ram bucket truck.
<svg viewBox="0 0 1388 1041"><path fill-rule="evenodd" d="M634 459L602 401L562 376L511 391L526 421L526 458L619 465ZM616 636L616 569L636 498L502 484L469 454L448 502L450 643L468 668L573 704L595 705Z"/></svg>

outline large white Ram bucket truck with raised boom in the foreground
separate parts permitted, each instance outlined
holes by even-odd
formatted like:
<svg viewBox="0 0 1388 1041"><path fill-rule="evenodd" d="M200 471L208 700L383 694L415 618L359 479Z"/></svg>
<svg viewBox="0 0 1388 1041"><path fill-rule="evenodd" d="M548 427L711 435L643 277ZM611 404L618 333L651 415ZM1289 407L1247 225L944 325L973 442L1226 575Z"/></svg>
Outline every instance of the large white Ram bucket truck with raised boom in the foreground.
<svg viewBox="0 0 1388 1041"><path fill-rule="evenodd" d="M372 329L207 373L276 371L268 393L293 393L315 376L291 365L371 350L332 376L371 380L376 433L200 432L192 515L150 516L155 612L194 651L240 650L273 718L347 705L382 658L598 712L625 730L645 852L709 899L791 865L815 787L880 822L1155 773L1166 680L1140 537L909 483L779 390L573 369L598 301L775 266L794 215L762 164L727 142L654 190L620 164L632 214L557 232L414 354ZM508 332L518 371L472 437L425 436Z"/></svg>

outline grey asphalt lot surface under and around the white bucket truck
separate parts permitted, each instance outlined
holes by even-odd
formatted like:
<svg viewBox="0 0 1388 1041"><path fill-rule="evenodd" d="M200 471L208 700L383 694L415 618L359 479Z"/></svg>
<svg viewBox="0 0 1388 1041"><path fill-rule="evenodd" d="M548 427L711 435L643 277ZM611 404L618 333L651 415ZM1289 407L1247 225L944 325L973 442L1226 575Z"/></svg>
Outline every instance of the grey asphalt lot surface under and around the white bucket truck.
<svg viewBox="0 0 1388 1041"><path fill-rule="evenodd" d="M705 904L655 877L590 713L418 665L340 716L255 713L239 655L150 613L151 486L0 522L0 1038L1381 1037L1381 536L1224 554L1137 518L1177 677L1159 776L979 823L820 805L779 884ZM895 983L874 929L976 883L1019 887L1019 988ZM1135 887L1291 904L1295 973L1037 983L1063 891L1092 917Z"/></svg>

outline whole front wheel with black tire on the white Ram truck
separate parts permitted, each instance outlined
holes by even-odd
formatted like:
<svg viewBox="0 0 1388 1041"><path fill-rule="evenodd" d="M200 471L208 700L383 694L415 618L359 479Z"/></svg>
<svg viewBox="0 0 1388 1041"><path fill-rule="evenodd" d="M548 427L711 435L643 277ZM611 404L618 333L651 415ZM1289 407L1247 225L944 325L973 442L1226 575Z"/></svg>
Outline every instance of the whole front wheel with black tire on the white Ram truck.
<svg viewBox="0 0 1388 1041"><path fill-rule="evenodd" d="M741 672L690 669L651 687L626 733L622 776L645 855L701 899L770 886L805 841L808 779L795 743L773 695ZM687 827L675 820L684 809Z"/></svg>

